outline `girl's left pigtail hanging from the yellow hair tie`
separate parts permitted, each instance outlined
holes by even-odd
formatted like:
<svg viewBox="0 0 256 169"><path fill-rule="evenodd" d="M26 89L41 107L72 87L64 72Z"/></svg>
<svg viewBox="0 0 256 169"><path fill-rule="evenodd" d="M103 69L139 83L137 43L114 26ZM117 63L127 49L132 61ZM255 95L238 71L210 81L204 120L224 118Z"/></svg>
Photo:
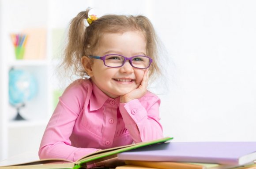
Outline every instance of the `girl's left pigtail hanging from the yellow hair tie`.
<svg viewBox="0 0 256 169"><path fill-rule="evenodd" d="M61 66L64 66L65 70L71 70L72 72L75 72L76 75L82 75L84 73L80 60L85 54L85 21L88 18L89 11L90 8L87 8L87 11L80 12L70 22L68 31L68 43L64 50L64 60Z"/></svg>

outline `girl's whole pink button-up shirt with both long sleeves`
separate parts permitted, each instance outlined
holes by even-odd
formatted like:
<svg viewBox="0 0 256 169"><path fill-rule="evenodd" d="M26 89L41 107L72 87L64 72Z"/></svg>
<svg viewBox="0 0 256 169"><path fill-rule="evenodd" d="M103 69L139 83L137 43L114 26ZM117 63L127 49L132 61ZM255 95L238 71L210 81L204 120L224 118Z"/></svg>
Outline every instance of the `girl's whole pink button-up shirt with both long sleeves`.
<svg viewBox="0 0 256 169"><path fill-rule="evenodd" d="M99 149L163 137L156 95L147 92L128 103L119 100L105 95L91 80L73 82L45 129L39 157L76 161Z"/></svg>

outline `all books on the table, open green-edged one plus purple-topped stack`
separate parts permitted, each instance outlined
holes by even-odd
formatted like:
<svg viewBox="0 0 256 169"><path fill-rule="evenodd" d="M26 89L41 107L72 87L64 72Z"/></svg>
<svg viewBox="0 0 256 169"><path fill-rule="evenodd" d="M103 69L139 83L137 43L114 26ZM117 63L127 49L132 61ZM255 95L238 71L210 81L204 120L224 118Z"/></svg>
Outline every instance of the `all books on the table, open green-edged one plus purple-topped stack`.
<svg viewBox="0 0 256 169"><path fill-rule="evenodd" d="M256 142L168 142L165 137L96 151L76 162L64 159L4 160L0 169L86 169L88 165L119 158L116 169L256 169Z"/></svg>

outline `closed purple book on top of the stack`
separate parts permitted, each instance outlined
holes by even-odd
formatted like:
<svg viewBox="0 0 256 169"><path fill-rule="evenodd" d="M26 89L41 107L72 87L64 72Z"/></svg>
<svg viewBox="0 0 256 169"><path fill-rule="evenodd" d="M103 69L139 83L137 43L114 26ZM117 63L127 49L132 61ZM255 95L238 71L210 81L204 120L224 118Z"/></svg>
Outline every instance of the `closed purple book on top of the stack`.
<svg viewBox="0 0 256 169"><path fill-rule="evenodd" d="M256 142L171 142L117 155L121 160L244 165L256 160Z"/></svg>

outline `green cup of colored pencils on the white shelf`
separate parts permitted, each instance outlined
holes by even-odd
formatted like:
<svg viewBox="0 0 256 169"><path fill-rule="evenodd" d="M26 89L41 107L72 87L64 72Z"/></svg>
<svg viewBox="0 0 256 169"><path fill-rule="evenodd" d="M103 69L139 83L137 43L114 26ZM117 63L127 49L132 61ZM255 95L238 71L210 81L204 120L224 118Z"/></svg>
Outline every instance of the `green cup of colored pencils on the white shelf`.
<svg viewBox="0 0 256 169"><path fill-rule="evenodd" d="M11 34L11 40L15 48L16 59L23 59L25 53L25 45L27 35L25 34Z"/></svg>

